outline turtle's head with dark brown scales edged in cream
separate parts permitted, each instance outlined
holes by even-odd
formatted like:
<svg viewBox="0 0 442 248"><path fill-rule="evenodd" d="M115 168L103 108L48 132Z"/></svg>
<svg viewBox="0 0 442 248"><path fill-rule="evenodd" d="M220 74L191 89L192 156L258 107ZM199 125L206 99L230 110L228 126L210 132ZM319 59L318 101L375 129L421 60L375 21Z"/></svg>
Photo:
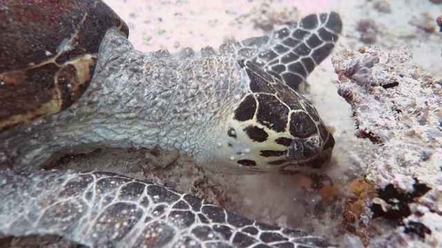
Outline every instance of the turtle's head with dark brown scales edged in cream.
<svg viewBox="0 0 442 248"><path fill-rule="evenodd" d="M225 125L224 163L253 172L315 171L328 164L334 138L311 103L253 63L240 65L250 92Z"/></svg>

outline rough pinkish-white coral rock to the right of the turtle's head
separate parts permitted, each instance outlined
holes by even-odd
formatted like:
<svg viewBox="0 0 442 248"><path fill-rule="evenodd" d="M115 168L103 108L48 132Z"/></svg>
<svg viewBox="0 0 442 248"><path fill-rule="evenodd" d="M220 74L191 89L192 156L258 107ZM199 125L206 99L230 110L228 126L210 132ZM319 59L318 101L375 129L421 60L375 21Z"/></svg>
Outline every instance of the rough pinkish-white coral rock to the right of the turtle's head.
<svg viewBox="0 0 442 248"><path fill-rule="evenodd" d="M343 227L370 247L441 247L441 81L414 65L405 49L347 50L332 62L361 141L349 147L350 167L376 188L375 198L354 192L346 200ZM379 212L372 213L372 203L404 211L394 220L373 219Z"/></svg>

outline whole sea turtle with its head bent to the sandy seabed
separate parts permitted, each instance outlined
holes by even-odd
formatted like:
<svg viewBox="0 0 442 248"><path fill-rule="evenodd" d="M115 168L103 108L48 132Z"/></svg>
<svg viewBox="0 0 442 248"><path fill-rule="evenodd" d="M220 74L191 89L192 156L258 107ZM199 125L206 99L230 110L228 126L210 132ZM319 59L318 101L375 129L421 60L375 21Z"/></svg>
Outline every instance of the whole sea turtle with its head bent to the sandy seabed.
<svg viewBox="0 0 442 248"><path fill-rule="evenodd" d="M36 169L101 146L178 149L212 172L320 169L334 138L296 90L334 48L336 12L176 55L134 50L100 0L6 0L0 19L0 234L90 247L327 245L160 185Z"/></svg>

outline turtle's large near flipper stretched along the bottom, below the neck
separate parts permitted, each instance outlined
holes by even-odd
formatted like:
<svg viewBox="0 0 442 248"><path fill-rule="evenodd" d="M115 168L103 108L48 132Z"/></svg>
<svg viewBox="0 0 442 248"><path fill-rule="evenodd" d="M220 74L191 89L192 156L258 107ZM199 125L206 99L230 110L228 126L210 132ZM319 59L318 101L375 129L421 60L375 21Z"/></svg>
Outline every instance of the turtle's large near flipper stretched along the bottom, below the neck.
<svg viewBox="0 0 442 248"><path fill-rule="evenodd" d="M117 174L3 170L0 183L3 235L55 234L88 247L329 247Z"/></svg>

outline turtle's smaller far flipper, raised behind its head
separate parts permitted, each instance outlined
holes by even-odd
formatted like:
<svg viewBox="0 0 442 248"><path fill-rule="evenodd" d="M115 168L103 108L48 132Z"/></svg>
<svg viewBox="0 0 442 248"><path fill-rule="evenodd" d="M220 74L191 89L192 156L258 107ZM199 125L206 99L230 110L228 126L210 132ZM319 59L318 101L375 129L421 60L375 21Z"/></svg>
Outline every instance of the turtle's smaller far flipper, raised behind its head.
<svg viewBox="0 0 442 248"><path fill-rule="evenodd" d="M310 14L270 36L221 45L220 51L234 52L298 90L332 52L342 28L336 12Z"/></svg>

